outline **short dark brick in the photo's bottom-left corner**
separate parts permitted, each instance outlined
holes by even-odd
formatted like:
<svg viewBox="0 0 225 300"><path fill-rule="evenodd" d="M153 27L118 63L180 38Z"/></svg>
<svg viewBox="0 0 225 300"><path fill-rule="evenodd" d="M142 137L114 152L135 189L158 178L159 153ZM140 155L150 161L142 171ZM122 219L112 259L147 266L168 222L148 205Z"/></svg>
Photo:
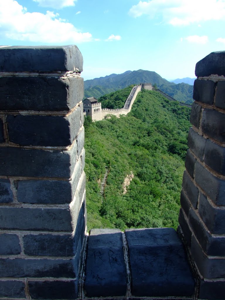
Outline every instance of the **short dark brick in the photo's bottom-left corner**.
<svg viewBox="0 0 225 300"><path fill-rule="evenodd" d="M0 297L26 299L24 282L13 280L0 280Z"/></svg>

